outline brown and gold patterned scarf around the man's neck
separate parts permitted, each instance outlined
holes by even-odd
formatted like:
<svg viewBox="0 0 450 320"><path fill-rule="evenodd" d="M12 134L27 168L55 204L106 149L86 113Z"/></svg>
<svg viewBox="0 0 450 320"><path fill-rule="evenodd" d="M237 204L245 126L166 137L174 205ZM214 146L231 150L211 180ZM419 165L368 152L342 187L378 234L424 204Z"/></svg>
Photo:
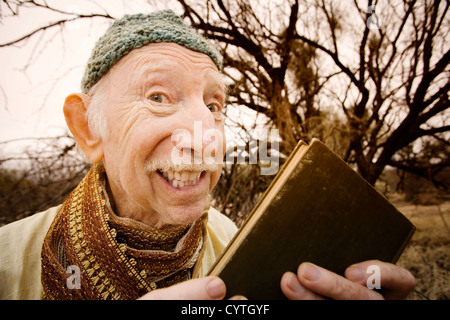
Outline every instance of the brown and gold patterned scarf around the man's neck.
<svg viewBox="0 0 450 320"><path fill-rule="evenodd" d="M42 248L44 299L136 299L192 276L209 205L192 225L157 230L116 216L105 179L95 165L59 209Z"/></svg>

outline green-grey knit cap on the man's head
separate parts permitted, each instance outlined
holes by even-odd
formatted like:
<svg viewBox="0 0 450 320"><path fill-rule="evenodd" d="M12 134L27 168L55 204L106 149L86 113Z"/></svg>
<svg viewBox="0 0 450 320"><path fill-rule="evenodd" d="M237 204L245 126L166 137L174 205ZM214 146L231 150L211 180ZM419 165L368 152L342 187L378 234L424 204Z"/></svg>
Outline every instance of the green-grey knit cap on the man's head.
<svg viewBox="0 0 450 320"><path fill-rule="evenodd" d="M217 50L172 10L162 10L148 15L125 15L116 20L95 44L81 89L87 93L128 52L156 42L173 42L204 53L222 71L222 57Z"/></svg>

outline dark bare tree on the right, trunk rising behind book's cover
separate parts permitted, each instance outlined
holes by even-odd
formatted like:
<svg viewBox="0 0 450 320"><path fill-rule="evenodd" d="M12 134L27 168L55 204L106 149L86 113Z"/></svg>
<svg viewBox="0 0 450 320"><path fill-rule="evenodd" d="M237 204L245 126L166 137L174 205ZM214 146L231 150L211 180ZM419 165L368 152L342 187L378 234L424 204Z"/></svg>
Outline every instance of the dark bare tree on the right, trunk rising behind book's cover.
<svg viewBox="0 0 450 320"><path fill-rule="evenodd" d="M355 71L341 62L337 48L330 50L298 36L332 58L359 91L354 104L341 105L352 129L346 160L355 162L371 183L386 165L399 165L396 153L402 148L425 136L445 141L440 134L450 130L449 114L445 112L450 106L450 50L446 37L449 2L402 1L382 5L381 10L387 12L383 17L386 24L371 32L367 24L374 12L369 8L374 8L375 2L368 1L367 8L360 8L355 2L366 24L357 38L359 65L353 68ZM331 17L328 21L333 21L333 9L324 5L321 9ZM332 39L336 39L331 22L329 26ZM448 159L441 160L446 163L436 166L449 165ZM414 170L413 166L407 168L406 163L402 165Z"/></svg>

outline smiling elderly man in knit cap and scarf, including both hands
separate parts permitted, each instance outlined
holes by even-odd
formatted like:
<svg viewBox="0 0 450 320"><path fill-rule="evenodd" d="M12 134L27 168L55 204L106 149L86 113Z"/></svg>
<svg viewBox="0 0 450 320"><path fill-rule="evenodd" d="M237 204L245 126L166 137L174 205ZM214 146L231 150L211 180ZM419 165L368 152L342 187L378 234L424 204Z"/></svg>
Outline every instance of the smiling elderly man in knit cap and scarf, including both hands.
<svg viewBox="0 0 450 320"><path fill-rule="evenodd" d="M64 115L94 164L64 203L0 230L3 299L222 299L205 277L236 232L209 205L223 156L220 55L172 11L125 16L97 42ZM206 152L208 151L208 152ZM287 272L290 299L380 299L411 274L367 261L341 277L309 263Z"/></svg>

